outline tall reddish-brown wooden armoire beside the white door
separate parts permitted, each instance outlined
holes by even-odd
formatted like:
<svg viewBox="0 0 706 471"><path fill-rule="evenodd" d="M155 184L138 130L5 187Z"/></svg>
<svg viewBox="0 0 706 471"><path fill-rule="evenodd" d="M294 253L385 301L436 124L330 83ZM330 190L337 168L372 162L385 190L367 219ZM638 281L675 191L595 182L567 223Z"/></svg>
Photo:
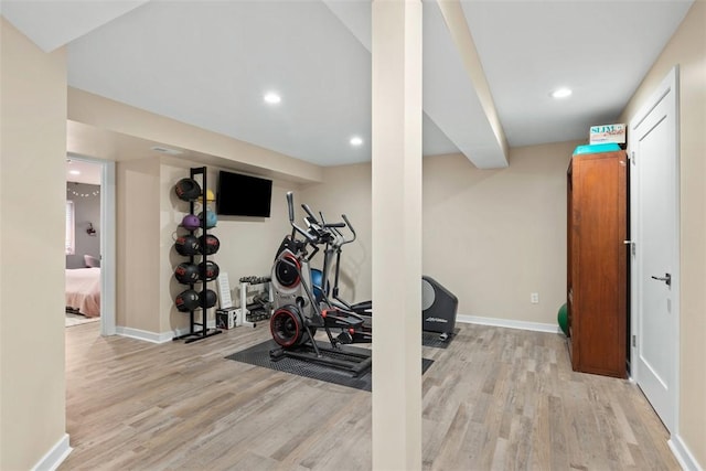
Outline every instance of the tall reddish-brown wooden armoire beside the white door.
<svg viewBox="0 0 706 471"><path fill-rule="evenodd" d="M567 171L567 311L574 371L627 376L628 157L575 153Z"/></svg>

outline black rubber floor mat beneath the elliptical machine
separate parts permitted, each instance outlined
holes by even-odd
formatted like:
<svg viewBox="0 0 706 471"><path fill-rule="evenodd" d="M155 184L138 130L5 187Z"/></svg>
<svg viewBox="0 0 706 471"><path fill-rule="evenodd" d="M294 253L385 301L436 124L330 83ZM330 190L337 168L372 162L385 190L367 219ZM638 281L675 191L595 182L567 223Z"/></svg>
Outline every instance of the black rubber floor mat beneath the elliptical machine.
<svg viewBox="0 0 706 471"><path fill-rule="evenodd" d="M269 351L274 349L277 349L277 344L275 341L268 340L240 352L235 352L234 354L226 356L226 358L324 381L327 383L334 383L341 386L353 387L356 389L371 390L372 388L372 373L370 371L357 377L352 377L349 372L298 358L284 357L274 362L269 356ZM344 345L343 349L352 352L370 352L367 349L360 349L351 345ZM421 374L426 373L432 363L434 360L421 358Z"/></svg>

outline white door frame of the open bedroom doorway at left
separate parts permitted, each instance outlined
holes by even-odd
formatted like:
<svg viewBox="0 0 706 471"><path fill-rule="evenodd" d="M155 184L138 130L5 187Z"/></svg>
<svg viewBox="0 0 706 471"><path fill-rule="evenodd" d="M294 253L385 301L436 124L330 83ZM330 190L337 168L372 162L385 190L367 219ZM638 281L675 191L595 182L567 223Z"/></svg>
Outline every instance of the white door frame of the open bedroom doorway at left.
<svg viewBox="0 0 706 471"><path fill-rule="evenodd" d="M115 162L67 152L67 158L100 165L100 334L116 334Z"/></svg>

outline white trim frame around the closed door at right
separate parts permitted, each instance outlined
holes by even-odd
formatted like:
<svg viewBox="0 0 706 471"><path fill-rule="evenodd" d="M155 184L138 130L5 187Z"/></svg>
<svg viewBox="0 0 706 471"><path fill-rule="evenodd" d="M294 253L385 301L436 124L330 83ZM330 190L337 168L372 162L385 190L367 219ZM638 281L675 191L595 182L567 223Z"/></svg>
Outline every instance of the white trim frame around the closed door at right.
<svg viewBox="0 0 706 471"><path fill-rule="evenodd" d="M629 140L629 152L630 152L630 163L631 167L635 165L635 158L633 154L633 150L634 149L634 139L635 137L635 129L644 120L644 118L650 114L650 111L652 111L652 109L654 109L654 107L662 100L662 98L664 98L668 93L673 93L674 94L674 108L671 110L671 113L674 114L674 192L675 192L675 206L674 207L674 225L675 227L672 228L672 234L674 237L674 250L671 254L671 258L672 258L672 266L673 266L673 274L672 274L672 293L673 293L673 298L672 298L672 317L674 319L675 325L674 325L674 338L672 339L672 342L674 342L674 349L675 349L675 355L674 355L674 363L672 365L672 387L670 388L671 395L670 395L670 403L671 403L671 407L672 407L672 416L673 416L673 424L671 424L670 426L667 426L665 424L665 427L668 429L672 437L675 437L677 435L677 431L680 429L678 427L678 422L680 422L680 377L681 377L681 373L680 373L680 352L681 352L681 347L680 347L680 323L681 323L681 308L680 308L680 299L681 299L681 266L680 266L680 258L681 258L681 245L680 245L680 239L681 239L681 185L680 185L680 180L681 180L681 164L680 164L680 87L678 87L678 65L675 65L668 73L667 75L662 79L662 82L660 83L660 85L656 87L656 89L653 92L653 94L645 99L643 106L640 108L640 110L638 113L635 113L632 118L630 118L629 121L629 136L628 136L628 140ZM637 157L637 163L639 164L639 160L640 160L640 156ZM632 170L632 169L631 169ZM639 192L640 190L640 179L639 179L639 174L637 171L631 171L630 172L630 214L631 214L631 221L630 221L630 233L631 233L631 239L633 242L633 244L637 243L637 248L635 250L641 249L640 247L640 236L641 234L639 234L638 229L639 229L639 217L640 217L640 208L642 205L642 202L639 199ZM630 366L631 366L631 372L630 375L632 377L632 379L640 385L640 367L639 367L639 362L637 361L638 355L639 355L639 349L634 342L634 339L637 338L637 342L641 342L641 339L639 338L639 332L640 332L640 327L641 327L641 299L640 299L640 292L639 292L639 283L638 283L638 276L635 276L637 274L641 274L642 272L642 264L639 257L637 257L633 255L630 257L630 263L631 263L631 272L633 274L633 276L631 277L631 283L630 283L630 292L631 292L631 312L630 312L630 339L631 339L631 343L630 343Z"/></svg>

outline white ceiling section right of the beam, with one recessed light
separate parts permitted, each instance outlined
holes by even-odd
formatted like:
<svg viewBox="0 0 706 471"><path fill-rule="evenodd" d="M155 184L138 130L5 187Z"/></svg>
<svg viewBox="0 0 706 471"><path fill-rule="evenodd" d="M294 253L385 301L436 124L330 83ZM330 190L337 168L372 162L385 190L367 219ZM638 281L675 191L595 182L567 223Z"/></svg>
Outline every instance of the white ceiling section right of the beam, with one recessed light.
<svg viewBox="0 0 706 471"><path fill-rule="evenodd" d="M691 7L678 0L463 1L511 146L616 122ZM549 93L568 86L565 100ZM563 138L566 137L566 138Z"/></svg>

